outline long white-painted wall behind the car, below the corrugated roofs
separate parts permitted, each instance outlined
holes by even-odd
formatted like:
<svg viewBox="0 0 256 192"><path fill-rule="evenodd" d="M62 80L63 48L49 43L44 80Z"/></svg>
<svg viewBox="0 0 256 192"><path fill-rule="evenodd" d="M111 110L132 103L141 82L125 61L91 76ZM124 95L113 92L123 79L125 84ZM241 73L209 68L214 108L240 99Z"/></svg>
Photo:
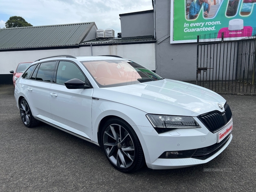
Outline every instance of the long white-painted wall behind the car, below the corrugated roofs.
<svg viewBox="0 0 256 192"><path fill-rule="evenodd" d="M92 46L93 55L118 55L155 70L154 44ZM10 74L20 62L33 62L52 55L90 56L91 47L0 52L0 74Z"/></svg>

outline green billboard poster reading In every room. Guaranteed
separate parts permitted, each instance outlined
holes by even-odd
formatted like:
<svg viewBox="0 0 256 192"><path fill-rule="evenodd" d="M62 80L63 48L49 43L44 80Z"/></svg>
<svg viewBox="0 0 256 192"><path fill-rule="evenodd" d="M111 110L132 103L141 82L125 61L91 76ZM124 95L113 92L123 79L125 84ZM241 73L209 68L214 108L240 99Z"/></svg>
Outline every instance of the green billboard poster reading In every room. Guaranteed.
<svg viewBox="0 0 256 192"><path fill-rule="evenodd" d="M171 44L256 35L256 0L171 0Z"/></svg>

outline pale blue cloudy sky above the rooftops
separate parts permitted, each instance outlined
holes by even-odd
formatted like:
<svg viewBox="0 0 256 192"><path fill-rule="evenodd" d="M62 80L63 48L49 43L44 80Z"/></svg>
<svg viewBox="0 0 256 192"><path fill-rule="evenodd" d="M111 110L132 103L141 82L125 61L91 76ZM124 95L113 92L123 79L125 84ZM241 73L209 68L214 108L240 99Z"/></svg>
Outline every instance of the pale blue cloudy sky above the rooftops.
<svg viewBox="0 0 256 192"><path fill-rule="evenodd" d="M0 28L12 16L33 26L95 22L121 32L119 14L151 10L152 0L0 0Z"/></svg>

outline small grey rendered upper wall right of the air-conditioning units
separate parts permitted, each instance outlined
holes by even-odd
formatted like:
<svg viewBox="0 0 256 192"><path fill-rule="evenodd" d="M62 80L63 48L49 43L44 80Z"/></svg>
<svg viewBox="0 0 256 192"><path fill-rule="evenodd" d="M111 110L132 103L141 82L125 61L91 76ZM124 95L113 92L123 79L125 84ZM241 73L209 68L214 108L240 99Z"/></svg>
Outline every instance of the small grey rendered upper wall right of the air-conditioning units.
<svg viewBox="0 0 256 192"><path fill-rule="evenodd" d="M154 12L120 14L122 38L154 35Z"/></svg>

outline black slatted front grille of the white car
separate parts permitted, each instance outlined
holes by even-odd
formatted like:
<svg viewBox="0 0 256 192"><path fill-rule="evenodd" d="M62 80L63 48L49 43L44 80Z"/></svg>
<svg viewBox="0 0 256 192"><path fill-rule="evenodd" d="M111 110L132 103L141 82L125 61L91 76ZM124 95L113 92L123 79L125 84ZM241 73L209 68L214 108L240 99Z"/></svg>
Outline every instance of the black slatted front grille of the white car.
<svg viewBox="0 0 256 192"><path fill-rule="evenodd" d="M227 103L224 105L225 111L223 113L219 111L211 111L203 115L199 115L198 119L207 127L212 133L217 132L221 127L226 125L232 117L232 112Z"/></svg>

